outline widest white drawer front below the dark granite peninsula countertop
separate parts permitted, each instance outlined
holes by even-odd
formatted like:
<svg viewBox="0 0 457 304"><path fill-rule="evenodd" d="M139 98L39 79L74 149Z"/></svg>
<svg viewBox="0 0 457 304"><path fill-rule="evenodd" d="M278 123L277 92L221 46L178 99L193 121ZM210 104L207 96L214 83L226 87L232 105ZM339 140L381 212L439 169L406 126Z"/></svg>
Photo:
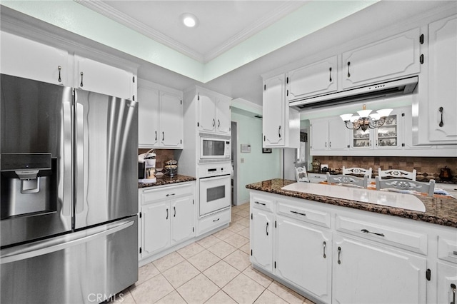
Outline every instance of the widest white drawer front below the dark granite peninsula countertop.
<svg viewBox="0 0 457 304"><path fill-rule="evenodd" d="M427 254L426 233L414 233L411 228L407 230L339 215L336 215L335 228L337 231L356 235L360 238Z"/></svg>

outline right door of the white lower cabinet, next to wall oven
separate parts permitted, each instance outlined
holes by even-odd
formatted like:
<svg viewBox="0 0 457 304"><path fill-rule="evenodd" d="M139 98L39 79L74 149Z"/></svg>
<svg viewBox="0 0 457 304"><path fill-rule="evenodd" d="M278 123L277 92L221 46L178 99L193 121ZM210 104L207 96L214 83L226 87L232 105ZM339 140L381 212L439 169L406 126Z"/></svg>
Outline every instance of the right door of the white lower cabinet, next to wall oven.
<svg viewBox="0 0 457 304"><path fill-rule="evenodd" d="M171 245L195 235L194 197L171 201Z"/></svg>

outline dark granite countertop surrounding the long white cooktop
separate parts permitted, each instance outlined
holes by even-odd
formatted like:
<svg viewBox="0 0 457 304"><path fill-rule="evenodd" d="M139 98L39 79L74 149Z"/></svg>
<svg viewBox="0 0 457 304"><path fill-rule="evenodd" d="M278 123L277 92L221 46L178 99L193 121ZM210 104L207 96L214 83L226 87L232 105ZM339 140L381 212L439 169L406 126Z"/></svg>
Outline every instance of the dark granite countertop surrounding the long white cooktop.
<svg viewBox="0 0 457 304"><path fill-rule="evenodd" d="M296 183L296 181L276 178L258 183L251 183L246 185L246 188L457 228L456 198L417 196L426 207L425 212L420 212L371 203L349 201L340 198L331 198L328 196L318 196L310 193L281 190L282 187L290 185L291 183Z"/></svg>

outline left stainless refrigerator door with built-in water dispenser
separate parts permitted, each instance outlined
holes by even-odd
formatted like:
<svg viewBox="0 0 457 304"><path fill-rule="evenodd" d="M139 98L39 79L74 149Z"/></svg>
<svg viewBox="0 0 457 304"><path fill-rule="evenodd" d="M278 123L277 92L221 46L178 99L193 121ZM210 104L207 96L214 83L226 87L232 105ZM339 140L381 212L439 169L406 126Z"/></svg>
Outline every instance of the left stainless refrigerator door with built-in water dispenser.
<svg viewBox="0 0 457 304"><path fill-rule="evenodd" d="M26 78L1 74L0 82L1 153L50 153L52 164L52 172L37 173L41 183L38 179L24 182L11 175L12 164L0 168L0 240L4 247L71 230L73 96L71 88ZM30 165L28 161L18 161L24 157L14 159L14 166ZM34 191L24 191L24 183L34 183ZM19 208L21 211L16 212Z"/></svg>

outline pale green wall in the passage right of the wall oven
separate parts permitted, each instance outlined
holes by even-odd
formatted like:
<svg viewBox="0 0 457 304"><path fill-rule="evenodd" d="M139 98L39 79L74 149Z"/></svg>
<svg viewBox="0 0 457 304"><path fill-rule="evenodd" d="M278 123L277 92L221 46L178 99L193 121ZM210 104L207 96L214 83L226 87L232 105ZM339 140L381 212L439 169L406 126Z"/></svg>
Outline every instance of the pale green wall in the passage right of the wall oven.
<svg viewBox="0 0 457 304"><path fill-rule="evenodd" d="M280 149L262 153L262 119L253 115L231 113L231 120L236 121L238 128L238 205L249 201L247 184L281 177ZM251 153L241 153L241 143L250 144Z"/></svg>

